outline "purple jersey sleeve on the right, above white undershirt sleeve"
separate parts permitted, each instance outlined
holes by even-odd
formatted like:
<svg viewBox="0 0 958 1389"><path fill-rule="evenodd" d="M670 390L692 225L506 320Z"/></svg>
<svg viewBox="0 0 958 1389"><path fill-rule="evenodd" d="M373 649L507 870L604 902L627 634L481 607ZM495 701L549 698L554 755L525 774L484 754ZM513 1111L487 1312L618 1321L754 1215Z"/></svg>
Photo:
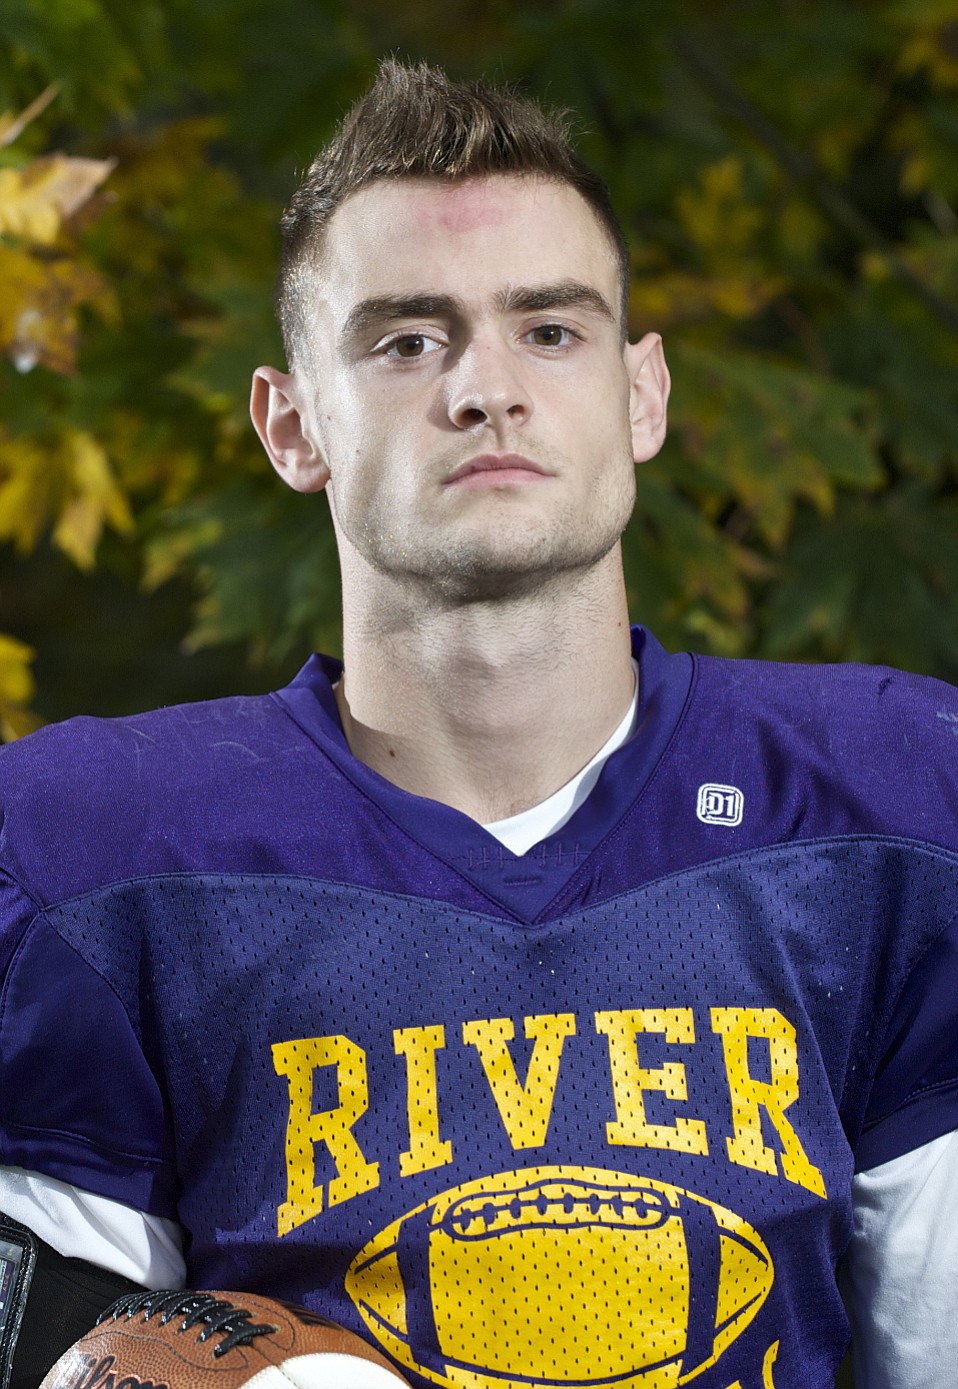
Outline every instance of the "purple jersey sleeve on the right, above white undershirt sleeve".
<svg viewBox="0 0 958 1389"><path fill-rule="evenodd" d="M855 1171L958 1129L958 915L925 950L884 1035Z"/></svg>

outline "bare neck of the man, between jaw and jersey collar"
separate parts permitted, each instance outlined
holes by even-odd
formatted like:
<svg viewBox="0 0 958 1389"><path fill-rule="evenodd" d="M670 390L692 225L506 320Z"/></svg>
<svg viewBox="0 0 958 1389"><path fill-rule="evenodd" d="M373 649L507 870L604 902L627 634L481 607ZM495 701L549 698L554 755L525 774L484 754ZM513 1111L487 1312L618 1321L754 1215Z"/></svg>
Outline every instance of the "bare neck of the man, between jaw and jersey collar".
<svg viewBox="0 0 958 1389"><path fill-rule="evenodd" d="M336 694L355 757L479 822L551 796L633 694L621 569L601 568L553 593L419 607L408 621L385 603L357 613L347 594Z"/></svg>

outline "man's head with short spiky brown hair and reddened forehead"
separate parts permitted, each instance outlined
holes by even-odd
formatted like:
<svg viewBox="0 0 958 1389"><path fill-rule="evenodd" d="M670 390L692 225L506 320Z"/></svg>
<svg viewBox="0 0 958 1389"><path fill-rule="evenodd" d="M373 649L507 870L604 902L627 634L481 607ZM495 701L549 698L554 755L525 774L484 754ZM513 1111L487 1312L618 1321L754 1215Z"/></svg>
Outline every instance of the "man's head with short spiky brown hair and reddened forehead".
<svg viewBox="0 0 958 1389"><path fill-rule="evenodd" d="M615 571L668 397L658 338L625 340L625 283L553 117L387 65L293 200L290 371L258 368L251 401L280 476L326 489L347 604Z"/></svg>

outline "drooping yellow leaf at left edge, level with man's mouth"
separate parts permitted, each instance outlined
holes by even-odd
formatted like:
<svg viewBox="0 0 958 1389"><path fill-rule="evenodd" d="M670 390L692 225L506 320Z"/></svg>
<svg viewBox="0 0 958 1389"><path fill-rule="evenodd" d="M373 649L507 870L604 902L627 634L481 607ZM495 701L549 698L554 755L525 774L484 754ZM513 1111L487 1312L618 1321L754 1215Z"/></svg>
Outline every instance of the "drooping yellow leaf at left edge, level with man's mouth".
<svg viewBox="0 0 958 1389"><path fill-rule="evenodd" d="M90 569L106 525L129 532L133 518L92 435L67 429L43 443L0 436L0 540L26 553L50 526L53 543Z"/></svg>

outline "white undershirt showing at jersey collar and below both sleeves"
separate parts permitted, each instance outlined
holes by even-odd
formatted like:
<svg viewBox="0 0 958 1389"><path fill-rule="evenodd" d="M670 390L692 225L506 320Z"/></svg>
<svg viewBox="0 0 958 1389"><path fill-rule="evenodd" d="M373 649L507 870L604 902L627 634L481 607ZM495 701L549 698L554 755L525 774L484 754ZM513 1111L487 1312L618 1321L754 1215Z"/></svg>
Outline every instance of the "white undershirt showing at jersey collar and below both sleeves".
<svg viewBox="0 0 958 1389"><path fill-rule="evenodd" d="M633 661L633 667L637 665ZM630 738L637 689L591 761L537 806L483 828L528 853L583 804L607 758ZM958 1132L859 1172L843 1296L855 1336L857 1389L954 1389L958 1364ZM146 1288L183 1288L179 1225L39 1172L0 1167L0 1210L61 1254ZM348 1357L351 1358L351 1357ZM329 1389L339 1389L339 1378ZM342 1389L350 1389L348 1375Z"/></svg>

